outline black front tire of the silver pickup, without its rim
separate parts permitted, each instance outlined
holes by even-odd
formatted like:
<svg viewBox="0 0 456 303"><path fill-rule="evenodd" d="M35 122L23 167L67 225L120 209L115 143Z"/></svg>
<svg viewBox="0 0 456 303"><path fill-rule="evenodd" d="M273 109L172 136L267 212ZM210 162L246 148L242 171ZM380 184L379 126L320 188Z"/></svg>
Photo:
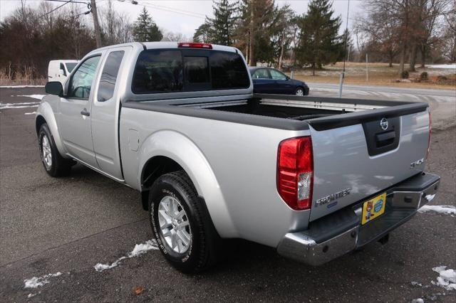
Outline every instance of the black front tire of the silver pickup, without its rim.
<svg viewBox="0 0 456 303"><path fill-rule="evenodd" d="M46 164L43 156L43 142L45 137L48 140L51 151L50 165ZM43 163L44 169L49 174L49 176L68 176L71 171L71 166L73 165L73 160L63 158L58 152L56 142L54 142L54 138L52 137L48 124L46 123L41 124L40 131L38 132L38 144L40 148L41 162Z"/></svg>

